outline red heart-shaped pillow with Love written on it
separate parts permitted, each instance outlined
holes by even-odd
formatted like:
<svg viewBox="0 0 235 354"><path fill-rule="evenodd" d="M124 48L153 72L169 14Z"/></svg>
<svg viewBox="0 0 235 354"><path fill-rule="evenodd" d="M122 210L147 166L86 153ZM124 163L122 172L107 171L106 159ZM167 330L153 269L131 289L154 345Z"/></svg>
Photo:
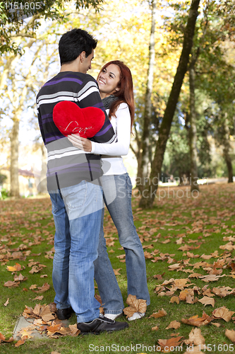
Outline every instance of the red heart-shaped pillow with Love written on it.
<svg viewBox="0 0 235 354"><path fill-rule="evenodd" d="M100 108L80 108L74 102L61 101L54 106L53 120L65 136L94 137L104 125L105 115Z"/></svg>

